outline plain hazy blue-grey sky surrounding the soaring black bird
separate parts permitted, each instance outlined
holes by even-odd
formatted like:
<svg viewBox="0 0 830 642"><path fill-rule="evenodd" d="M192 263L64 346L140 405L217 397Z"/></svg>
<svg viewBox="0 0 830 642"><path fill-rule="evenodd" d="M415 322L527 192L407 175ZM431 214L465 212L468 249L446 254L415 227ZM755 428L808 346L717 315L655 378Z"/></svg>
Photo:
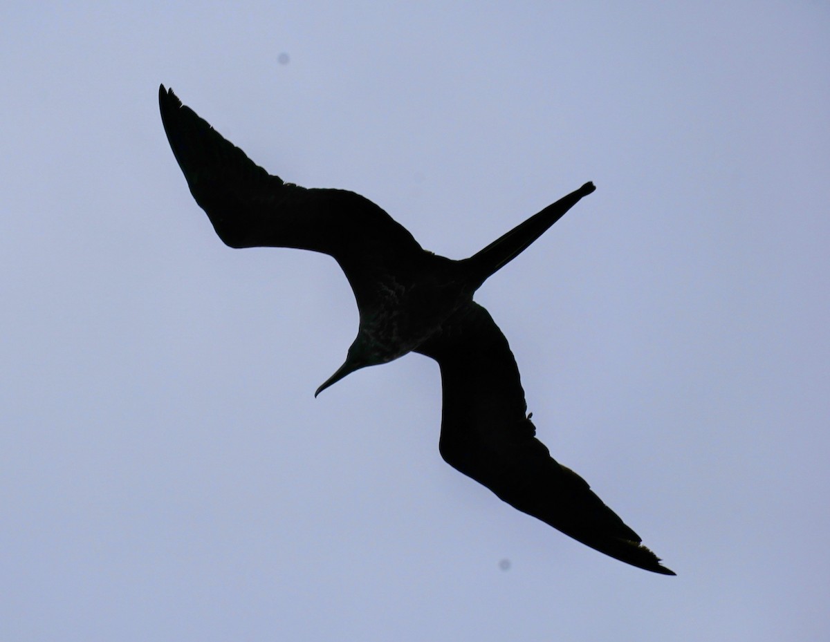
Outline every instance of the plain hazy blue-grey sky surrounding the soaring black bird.
<svg viewBox="0 0 830 642"><path fill-rule="evenodd" d="M830 639L828 2L4 2L0 70L4 642ZM222 245L159 83L451 258L593 180L476 300L678 576L445 464L427 357L315 400L344 275Z"/></svg>

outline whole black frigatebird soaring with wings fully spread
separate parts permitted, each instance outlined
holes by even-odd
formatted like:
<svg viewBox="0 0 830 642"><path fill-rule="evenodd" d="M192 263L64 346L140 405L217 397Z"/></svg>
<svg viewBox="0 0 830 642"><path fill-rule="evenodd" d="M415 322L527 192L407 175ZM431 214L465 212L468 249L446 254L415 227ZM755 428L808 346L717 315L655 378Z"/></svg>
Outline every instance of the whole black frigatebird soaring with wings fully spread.
<svg viewBox="0 0 830 642"><path fill-rule="evenodd" d="M334 257L344 271L359 309L358 334L315 396L359 368L411 352L431 357L441 371L438 450L447 464L588 547L675 575L536 438L507 339L473 300L490 275L592 193L593 182L469 258L452 260L424 250L366 197L300 187L267 173L164 85L159 109L190 192L227 246L313 250Z"/></svg>

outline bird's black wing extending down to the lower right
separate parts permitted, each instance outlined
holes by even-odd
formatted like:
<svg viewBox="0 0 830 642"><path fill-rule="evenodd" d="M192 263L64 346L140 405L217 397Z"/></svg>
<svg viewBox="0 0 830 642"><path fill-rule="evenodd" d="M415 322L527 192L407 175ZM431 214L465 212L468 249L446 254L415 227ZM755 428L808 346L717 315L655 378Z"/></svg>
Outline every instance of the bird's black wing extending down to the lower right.
<svg viewBox="0 0 830 642"><path fill-rule="evenodd" d="M417 349L441 367L441 455L511 506L618 560L674 575L573 470L556 462L525 416L513 353L486 309L470 304Z"/></svg>

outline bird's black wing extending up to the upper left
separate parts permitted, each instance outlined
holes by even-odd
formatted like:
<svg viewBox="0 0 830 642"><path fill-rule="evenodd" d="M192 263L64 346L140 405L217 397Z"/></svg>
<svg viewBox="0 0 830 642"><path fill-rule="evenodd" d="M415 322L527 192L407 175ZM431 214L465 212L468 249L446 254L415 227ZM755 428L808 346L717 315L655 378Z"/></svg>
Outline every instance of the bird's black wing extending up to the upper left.
<svg viewBox="0 0 830 642"><path fill-rule="evenodd" d="M374 285L367 272L388 273L422 255L413 236L369 199L339 189L306 189L269 175L164 85L159 108L190 192L228 246L325 252L353 288Z"/></svg>

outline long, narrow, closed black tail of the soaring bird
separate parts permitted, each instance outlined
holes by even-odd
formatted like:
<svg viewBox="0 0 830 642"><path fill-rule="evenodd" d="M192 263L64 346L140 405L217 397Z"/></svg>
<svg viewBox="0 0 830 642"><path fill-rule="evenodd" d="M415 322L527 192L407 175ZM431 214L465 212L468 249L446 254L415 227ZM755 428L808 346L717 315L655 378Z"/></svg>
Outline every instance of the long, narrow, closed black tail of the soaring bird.
<svg viewBox="0 0 830 642"><path fill-rule="evenodd" d="M504 236L500 236L489 246L467 259L465 263L471 270L471 280L476 288L490 275L520 255L533 241L542 236L545 230L559 221L565 212L574 207L582 197L588 196L595 189L593 182L586 182L575 192L560 198L559 201L545 207L538 214L530 216L527 221L515 226Z"/></svg>

